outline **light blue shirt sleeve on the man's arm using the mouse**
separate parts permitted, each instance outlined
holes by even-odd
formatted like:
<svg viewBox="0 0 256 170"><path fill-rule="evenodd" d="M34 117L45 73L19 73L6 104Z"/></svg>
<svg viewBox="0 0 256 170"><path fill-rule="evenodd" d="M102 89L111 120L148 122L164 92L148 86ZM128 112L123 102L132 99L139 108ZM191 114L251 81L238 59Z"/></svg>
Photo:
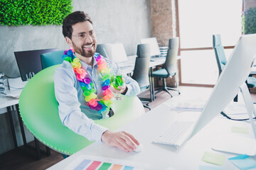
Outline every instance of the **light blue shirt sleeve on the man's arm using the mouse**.
<svg viewBox="0 0 256 170"><path fill-rule="evenodd" d="M73 70L72 70L73 71ZM63 67L58 67L54 75L55 97L58 101L58 111L63 125L88 140L101 142L102 133L107 128L97 125L80 110L78 91L75 89L75 74Z"/></svg>

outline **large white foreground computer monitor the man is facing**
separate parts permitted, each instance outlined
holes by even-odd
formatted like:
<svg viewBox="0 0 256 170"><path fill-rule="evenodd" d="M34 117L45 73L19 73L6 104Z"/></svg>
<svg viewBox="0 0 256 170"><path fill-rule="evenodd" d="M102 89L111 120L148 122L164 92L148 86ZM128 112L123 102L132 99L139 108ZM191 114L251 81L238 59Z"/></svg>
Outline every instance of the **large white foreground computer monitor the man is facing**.
<svg viewBox="0 0 256 170"><path fill-rule="evenodd" d="M252 124L252 131L256 137L255 108L252 104L245 81L250 74L251 67L256 57L256 34L242 35L238 40L237 45L230 55L230 58L221 72L217 84L214 86L213 92L208 98L206 105L203 108L193 130L191 137L207 125L216 115L224 110L230 101L241 91L245 101L247 111L249 111L250 123ZM254 114L252 113L254 112ZM225 149L225 147L223 147ZM229 151L231 152L231 151Z"/></svg>

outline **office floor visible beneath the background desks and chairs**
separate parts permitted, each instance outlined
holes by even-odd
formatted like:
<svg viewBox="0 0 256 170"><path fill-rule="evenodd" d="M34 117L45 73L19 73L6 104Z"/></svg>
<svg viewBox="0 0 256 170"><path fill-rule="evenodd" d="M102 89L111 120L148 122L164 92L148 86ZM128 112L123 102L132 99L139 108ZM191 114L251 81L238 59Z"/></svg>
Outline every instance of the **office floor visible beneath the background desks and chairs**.
<svg viewBox="0 0 256 170"><path fill-rule="evenodd" d="M196 98L200 97L208 97L210 94L211 88L205 87L191 87L191 86L178 86L178 89L181 91L182 96L195 96ZM171 92L171 94L178 96L176 91ZM141 97L149 97L149 92L141 94ZM251 94L252 101L256 102L256 94ZM151 108L158 106L159 104L163 103L164 101L170 98L169 94L166 92L161 92L156 95L156 100L149 103ZM145 108L145 111L149 111L149 109ZM33 145L33 142L31 142ZM9 152L0 155L0 169L26 169L26 170L41 170L47 169L48 167L52 166L63 160L62 154L50 150L50 157L47 157L46 154L42 154L42 158L40 160L36 159L35 156L31 156L26 152L22 151L23 149L28 149L24 147L19 147L19 149L13 149ZM41 145L41 149L45 149L43 145Z"/></svg>

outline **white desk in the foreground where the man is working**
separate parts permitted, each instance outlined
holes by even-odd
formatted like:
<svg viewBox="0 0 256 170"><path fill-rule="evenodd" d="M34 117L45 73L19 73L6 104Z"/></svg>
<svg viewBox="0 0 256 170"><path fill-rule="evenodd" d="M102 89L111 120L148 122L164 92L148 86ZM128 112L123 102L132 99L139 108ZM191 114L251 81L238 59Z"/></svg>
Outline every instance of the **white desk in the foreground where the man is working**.
<svg viewBox="0 0 256 170"><path fill-rule="evenodd" d="M177 97L176 97L177 98ZM171 98L170 100L173 100ZM228 159L235 157L236 154L228 154L224 152L216 152L211 149L211 145L220 135L228 134L231 131L232 125L243 125L250 128L247 123L235 122L218 116L211 123L209 123L203 130L198 132L194 137L185 143L180 149L175 149L168 145L156 145L151 143L151 140L165 130L169 123L174 120L194 120L198 113L176 113L171 111L171 108L161 104L137 120L132 121L119 130L126 130L132 135L137 137L139 142L142 143L144 149L142 152L127 153L121 149L109 147L104 143L94 143L79 152L71 155L67 159L51 166L49 170L64 169L75 161L81 155L92 155L97 157L106 157L112 159L124 159L132 162L139 162L141 164L149 164L151 169L162 170L168 167L174 169L199 169L199 166L217 166L201 161L205 152L213 152L216 154L225 155L225 162L222 166L225 169L238 169ZM250 135L252 135L250 129ZM245 135L245 136L250 136ZM256 159L256 157L253 157Z"/></svg>

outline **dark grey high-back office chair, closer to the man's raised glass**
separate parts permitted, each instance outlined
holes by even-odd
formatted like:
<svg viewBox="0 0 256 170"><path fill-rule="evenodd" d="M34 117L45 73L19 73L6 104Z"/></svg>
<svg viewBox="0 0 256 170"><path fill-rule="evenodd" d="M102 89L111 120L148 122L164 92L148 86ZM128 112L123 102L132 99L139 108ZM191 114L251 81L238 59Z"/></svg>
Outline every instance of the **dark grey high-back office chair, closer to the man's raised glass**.
<svg viewBox="0 0 256 170"><path fill-rule="evenodd" d="M141 89L140 94L149 87L149 62L150 62L150 45L149 44L140 44L137 46L137 56L135 65L134 65L134 74L132 79L138 82L139 88ZM149 107L149 101L146 101L145 98L139 98L145 108Z"/></svg>

